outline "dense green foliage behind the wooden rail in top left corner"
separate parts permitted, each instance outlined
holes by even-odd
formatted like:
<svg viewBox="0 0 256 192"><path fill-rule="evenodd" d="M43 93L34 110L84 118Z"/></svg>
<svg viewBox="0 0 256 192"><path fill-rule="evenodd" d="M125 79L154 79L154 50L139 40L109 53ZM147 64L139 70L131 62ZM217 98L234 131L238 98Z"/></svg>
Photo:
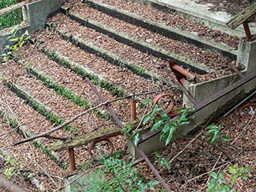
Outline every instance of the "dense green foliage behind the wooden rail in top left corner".
<svg viewBox="0 0 256 192"><path fill-rule="evenodd" d="M0 9L12 6L17 3L17 0L1 0ZM18 25L22 22L22 10L14 10L9 14L0 15L0 30L6 29L10 26Z"/></svg>

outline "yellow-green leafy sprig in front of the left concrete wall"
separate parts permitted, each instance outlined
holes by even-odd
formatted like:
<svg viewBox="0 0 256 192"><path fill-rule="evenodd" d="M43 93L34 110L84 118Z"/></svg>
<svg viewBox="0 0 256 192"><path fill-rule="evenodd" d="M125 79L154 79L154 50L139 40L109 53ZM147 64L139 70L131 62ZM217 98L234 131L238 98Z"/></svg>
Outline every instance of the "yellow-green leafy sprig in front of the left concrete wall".
<svg viewBox="0 0 256 192"><path fill-rule="evenodd" d="M19 50L22 46L30 39L30 34L28 30L25 31L24 34L20 37L17 36L17 28L13 28L10 30L10 36L7 38L10 42L13 42L12 46L5 47L5 53L1 54L1 58L3 62L7 62L8 59L14 58L14 51Z"/></svg>

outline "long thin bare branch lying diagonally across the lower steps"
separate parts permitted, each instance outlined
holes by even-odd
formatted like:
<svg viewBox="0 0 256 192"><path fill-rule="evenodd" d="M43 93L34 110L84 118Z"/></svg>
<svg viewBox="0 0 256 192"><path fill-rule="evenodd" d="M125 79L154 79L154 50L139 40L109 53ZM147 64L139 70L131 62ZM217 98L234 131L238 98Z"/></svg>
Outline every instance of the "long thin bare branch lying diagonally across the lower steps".
<svg viewBox="0 0 256 192"><path fill-rule="evenodd" d="M125 98L132 98L133 96L139 96L139 95L145 95L145 94L153 94L153 93L155 93L155 92L152 91L152 92L147 92L147 93L142 93L142 94L128 94L128 95L126 95L126 96L124 96L122 98L115 98L115 99L112 99L112 100L109 100L109 101L106 101L106 102L102 102L98 106L91 107L90 109L85 110L82 113L74 116L74 118L70 118L70 120L68 120L66 122L63 122L62 125L56 126L54 129L48 130L48 131L46 131L46 132L44 132L42 134L36 134L36 135L34 135L34 136L30 137L30 138L22 139L22 140L20 140L18 142L14 142L13 146L20 145L20 144L22 144L24 142L30 142L30 141L32 141L32 140L34 140L36 138L45 137L46 135L49 135L50 133L53 133L56 130L62 129L63 126L66 126L66 125L70 124L71 122L74 122L74 120L76 120L77 118L80 118L82 115L85 115L85 114L89 113L92 110L96 110L96 109L98 109L101 106L106 106L106 105L108 105L108 104L110 104L112 102L118 102L119 100L122 100L122 99L125 99ZM52 126L50 126L50 127L52 127Z"/></svg>

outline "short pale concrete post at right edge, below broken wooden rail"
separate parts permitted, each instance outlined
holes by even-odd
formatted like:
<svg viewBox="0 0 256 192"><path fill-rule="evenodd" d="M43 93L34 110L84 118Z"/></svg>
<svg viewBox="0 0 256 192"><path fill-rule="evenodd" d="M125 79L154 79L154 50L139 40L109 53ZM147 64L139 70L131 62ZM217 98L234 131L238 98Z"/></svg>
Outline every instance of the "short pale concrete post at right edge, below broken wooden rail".
<svg viewBox="0 0 256 192"><path fill-rule="evenodd" d="M239 39L237 63L246 67L246 74L256 70L256 40Z"/></svg>

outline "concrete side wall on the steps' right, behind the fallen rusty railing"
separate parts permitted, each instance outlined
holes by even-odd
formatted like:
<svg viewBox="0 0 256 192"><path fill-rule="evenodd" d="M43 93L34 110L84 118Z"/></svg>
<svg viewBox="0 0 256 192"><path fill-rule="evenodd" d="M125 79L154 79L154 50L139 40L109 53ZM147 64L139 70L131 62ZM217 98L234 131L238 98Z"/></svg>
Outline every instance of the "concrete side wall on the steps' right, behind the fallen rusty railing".
<svg viewBox="0 0 256 192"><path fill-rule="evenodd" d="M232 85L237 80L237 76L233 74L224 78L214 79L214 81L211 82L202 82L196 85L189 84L186 86L197 102L202 102L211 95L216 94L219 90L223 90L227 86ZM194 132L195 130L198 130L198 126L202 128L203 126L206 126L212 119L218 118L220 115L225 114L227 110L232 108L232 106L238 102L241 102L243 98L246 98L246 96L250 95L254 90L256 90L255 85L256 78L252 78L242 86L232 90L229 94L226 94L222 98L218 98L218 100L212 102L209 106L206 106L202 110L198 110L195 113L194 120L191 121L190 124L180 126L177 130L175 130L172 140L174 141L175 139L181 138L185 134ZM189 102L185 100L184 105L187 103ZM150 130L144 130L141 135L143 135L146 131ZM135 151L133 145L131 145L129 142L128 146L130 154L134 155L134 158L139 158L138 152ZM165 143L160 141L159 133L154 135L154 137L147 139L145 142L139 143L138 145L145 152L145 154L151 154L155 150L162 149L165 146Z"/></svg>

